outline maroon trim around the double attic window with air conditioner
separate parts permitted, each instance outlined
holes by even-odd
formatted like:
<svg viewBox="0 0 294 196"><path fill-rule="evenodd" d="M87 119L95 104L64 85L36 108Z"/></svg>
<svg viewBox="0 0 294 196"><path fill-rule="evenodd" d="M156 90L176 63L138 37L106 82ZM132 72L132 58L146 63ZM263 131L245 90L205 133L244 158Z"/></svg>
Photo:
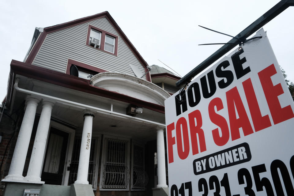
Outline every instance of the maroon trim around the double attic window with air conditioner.
<svg viewBox="0 0 294 196"><path fill-rule="evenodd" d="M111 55L115 55L115 56L117 56L117 47L118 47L118 42L119 42L119 36L114 35L114 34L112 34L112 33L109 33L109 32L107 32L107 31L104 31L103 29L101 29L101 28L97 28L97 27L95 27L95 26L93 26L93 25L88 25L88 32L87 32L86 45L87 45L87 46L90 46L90 47L93 48L93 46L89 45L89 39L90 39L91 28L92 28L92 29L95 29L95 30L97 30L97 31L100 31L100 32L102 33L102 35L101 35L101 41L100 41L100 48L95 48L95 49L96 49L96 50L101 50L101 51L107 52L107 53L109 53L109 54L111 54ZM108 51L105 51L105 50L104 50L105 36L106 36L106 35L109 35L109 36L115 38L115 48L114 48L114 53L111 53L111 52L108 52Z"/></svg>

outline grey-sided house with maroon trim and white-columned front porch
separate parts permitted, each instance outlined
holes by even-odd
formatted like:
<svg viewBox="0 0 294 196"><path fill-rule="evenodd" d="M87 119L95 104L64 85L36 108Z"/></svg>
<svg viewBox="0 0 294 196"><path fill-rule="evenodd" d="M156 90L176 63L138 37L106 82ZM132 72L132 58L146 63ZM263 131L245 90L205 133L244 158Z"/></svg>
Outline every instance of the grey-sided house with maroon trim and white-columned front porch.
<svg viewBox="0 0 294 196"><path fill-rule="evenodd" d="M168 194L164 100L180 78L151 67L108 12L36 28L2 103L2 194Z"/></svg>

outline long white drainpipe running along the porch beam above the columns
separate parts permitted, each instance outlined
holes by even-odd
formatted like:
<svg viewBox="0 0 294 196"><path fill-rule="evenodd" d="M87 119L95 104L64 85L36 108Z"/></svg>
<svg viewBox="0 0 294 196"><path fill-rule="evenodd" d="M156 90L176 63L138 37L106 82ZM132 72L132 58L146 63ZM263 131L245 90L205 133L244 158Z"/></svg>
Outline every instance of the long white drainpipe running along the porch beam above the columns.
<svg viewBox="0 0 294 196"><path fill-rule="evenodd" d="M149 124L149 125L155 125L155 126L158 126L160 128L165 128L165 124L162 124L162 123L156 123L156 122L153 122L153 121L150 121L150 120L140 119L140 118L137 118L137 117L126 115L126 114L121 114L121 113L118 113L118 112L114 112L112 110L104 110L104 109L101 109L99 107L93 107L93 106L89 106L89 105L85 105L85 104L80 104L80 103L77 103L77 102L74 102L74 101L69 101L69 100L58 98L58 97L46 95L46 94L43 94L43 93L34 92L34 91L27 90L27 89L22 89L22 88L18 87L19 80L20 80L20 78L16 78L15 83L13 85L14 90L16 90L18 92L23 92L23 93L28 94L28 95L34 95L37 98L41 98L41 99L46 98L46 100L51 100L51 101L54 101L56 103L66 105L66 106L70 106L70 107L74 107L74 108L80 108L80 109L84 109L84 110L88 109L88 110L90 110L90 111L92 111L94 113L98 113L98 114L111 115L111 116L119 118L119 119L128 119L128 120L132 120L132 121L139 122L139 123L145 123L145 124ZM112 104L111 104L111 108L112 108Z"/></svg>

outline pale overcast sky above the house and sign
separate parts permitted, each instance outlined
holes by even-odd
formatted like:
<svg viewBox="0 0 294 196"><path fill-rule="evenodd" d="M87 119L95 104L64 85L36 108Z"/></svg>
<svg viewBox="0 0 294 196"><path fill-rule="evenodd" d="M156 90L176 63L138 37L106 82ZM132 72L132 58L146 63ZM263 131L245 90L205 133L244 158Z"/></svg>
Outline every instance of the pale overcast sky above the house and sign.
<svg viewBox="0 0 294 196"><path fill-rule="evenodd" d="M182 77L231 38L198 25L236 36L276 0L222 1L15 1L0 2L0 99L12 59L23 61L35 27L48 27L108 11L149 65L165 67ZM290 7L263 28L288 79L294 82L294 8ZM167 67L165 67L167 68ZM168 68L167 68L168 69Z"/></svg>

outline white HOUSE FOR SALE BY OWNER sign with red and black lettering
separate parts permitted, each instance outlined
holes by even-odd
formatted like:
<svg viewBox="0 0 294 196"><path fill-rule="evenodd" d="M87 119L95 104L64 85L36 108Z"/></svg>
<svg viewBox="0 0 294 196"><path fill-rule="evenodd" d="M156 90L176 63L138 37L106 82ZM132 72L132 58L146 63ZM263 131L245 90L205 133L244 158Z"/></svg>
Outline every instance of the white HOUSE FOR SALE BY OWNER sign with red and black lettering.
<svg viewBox="0 0 294 196"><path fill-rule="evenodd" d="M294 195L294 102L256 36L165 101L170 196Z"/></svg>

